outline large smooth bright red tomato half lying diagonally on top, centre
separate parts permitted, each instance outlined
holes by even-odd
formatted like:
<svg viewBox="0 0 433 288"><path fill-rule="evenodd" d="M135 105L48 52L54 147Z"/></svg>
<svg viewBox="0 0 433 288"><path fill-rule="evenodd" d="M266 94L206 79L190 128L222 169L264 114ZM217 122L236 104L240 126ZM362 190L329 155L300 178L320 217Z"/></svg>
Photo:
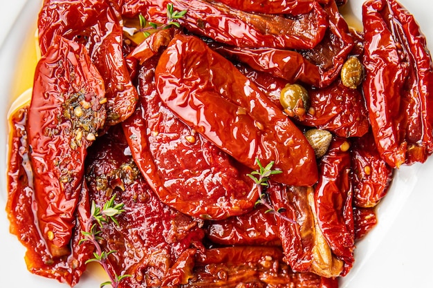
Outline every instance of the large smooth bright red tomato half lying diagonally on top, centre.
<svg viewBox="0 0 433 288"><path fill-rule="evenodd" d="M275 162L279 182L311 186L315 155L302 132L233 64L201 39L177 35L160 57L156 88L163 102L234 159L257 170Z"/></svg>

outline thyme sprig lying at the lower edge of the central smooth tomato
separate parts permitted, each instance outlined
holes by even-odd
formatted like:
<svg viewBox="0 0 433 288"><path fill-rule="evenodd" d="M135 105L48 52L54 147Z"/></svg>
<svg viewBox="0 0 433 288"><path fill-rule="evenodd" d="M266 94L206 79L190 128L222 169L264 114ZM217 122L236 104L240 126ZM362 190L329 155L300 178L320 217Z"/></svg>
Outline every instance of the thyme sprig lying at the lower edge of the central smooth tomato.
<svg viewBox="0 0 433 288"><path fill-rule="evenodd" d="M272 207L267 201L267 195L264 193L263 188L268 187L268 180L271 175L276 175L283 173L281 170L272 170L275 162L271 161L266 166L263 166L259 159L256 158L257 165L259 165L259 171L252 171L250 174L247 174L256 184L257 191L259 192L259 200L255 202L255 206L262 204L267 208L265 213L274 213L277 217L282 218L288 222L295 223L295 221L291 218L286 217L282 214L284 208L275 209ZM257 177L255 175L258 175Z"/></svg>

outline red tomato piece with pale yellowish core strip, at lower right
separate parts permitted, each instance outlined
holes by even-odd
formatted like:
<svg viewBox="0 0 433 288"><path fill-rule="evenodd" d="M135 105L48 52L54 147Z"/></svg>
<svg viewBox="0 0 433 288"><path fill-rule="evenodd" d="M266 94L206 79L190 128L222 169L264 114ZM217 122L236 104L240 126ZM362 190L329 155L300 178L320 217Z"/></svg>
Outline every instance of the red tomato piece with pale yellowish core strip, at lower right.
<svg viewBox="0 0 433 288"><path fill-rule="evenodd" d="M295 220L291 223L277 218L284 261L296 271L326 278L340 276L343 262L333 255L317 225L313 189L273 184L268 193L275 207L284 209L284 215Z"/></svg>

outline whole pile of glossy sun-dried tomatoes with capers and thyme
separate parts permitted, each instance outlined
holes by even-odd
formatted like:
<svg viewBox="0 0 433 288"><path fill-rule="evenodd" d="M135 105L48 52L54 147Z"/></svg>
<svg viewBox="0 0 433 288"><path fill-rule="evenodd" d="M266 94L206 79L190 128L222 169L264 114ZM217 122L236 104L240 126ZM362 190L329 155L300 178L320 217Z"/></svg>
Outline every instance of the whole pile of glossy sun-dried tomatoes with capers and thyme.
<svg viewBox="0 0 433 288"><path fill-rule="evenodd" d="M425 37L394 0L349 29L346 2L44 0L8 167L29 271L337 288L392 170L433 152Z"/></svg>

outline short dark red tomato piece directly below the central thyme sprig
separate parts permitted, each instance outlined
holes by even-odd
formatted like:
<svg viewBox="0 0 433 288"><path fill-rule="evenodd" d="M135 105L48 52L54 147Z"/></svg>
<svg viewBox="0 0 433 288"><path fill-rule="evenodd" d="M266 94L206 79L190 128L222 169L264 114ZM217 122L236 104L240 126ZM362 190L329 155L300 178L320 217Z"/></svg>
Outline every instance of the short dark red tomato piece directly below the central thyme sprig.
<svg viewBox="0 0 433 288"><path fill-rule="evenodd" d="M281 245L277 220L265 208L250 213L212 221L206 227L206 237L223 245Z"/></svg>

